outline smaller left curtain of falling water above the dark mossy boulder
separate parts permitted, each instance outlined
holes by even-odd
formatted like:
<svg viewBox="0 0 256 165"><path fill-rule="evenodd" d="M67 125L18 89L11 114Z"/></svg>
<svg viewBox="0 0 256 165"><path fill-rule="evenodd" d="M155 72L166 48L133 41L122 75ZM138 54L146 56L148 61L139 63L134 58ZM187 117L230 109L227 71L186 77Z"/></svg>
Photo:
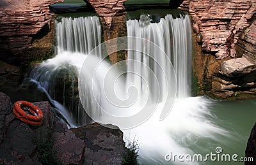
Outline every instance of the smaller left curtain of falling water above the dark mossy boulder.
<svg viewBox="0 0 256 165"><path fill-rule="evenodd" d="M65 51L88 54L101 43L101 27L98 17L63 17L55 20L58 54ZM97 54L101 57L101 53Z"/></svg>

